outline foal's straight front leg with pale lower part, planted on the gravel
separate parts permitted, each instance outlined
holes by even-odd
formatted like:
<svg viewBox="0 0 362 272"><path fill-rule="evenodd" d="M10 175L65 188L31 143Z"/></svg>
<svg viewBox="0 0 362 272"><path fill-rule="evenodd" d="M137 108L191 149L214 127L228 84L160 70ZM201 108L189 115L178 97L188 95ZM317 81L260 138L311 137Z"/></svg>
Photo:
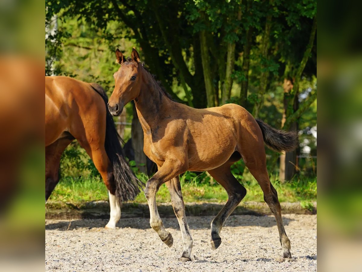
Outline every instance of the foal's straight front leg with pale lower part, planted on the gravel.
<svg viewBox="0 0 362 272"><path fill-rule="evenodd" d="M184 245L184 252L181 256L181 261L191 261L191 250L193 239L190 234L189 224L186 220L185 204L182 198L180 179L178 177L166 182L166 186L170 192L173 211L177 217L178 224L180 225L182 243Z"/></svg>

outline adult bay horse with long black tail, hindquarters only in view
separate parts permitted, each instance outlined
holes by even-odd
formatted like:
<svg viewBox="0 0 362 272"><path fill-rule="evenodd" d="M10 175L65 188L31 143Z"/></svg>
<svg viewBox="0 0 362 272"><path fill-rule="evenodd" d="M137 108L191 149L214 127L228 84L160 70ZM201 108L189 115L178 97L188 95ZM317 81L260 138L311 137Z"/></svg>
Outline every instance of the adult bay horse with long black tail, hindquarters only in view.
<svg viewBox="0 0 362 272"><path fill-rule="evenodd" d="M101 86L68 77L45 77L45 198L59 181L60 157L78 140L100 172L109 191L110 220L115 228L121 218L119 201L134 199L140 181L123 157L108 98Z"/></svg>

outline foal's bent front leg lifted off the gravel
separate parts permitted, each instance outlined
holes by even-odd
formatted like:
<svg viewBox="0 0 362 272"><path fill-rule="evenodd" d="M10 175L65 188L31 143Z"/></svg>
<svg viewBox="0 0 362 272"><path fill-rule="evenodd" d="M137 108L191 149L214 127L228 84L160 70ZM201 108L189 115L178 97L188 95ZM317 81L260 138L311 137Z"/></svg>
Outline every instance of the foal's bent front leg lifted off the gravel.
<svg viewBox="0 0 362 272"><path fill-rule="evenodd" d="M157 173L147 181L146 189L144 190L144 195L147 198L148 207L150 208L150 225L160 236L161 240L169 247L173 244L173 238L171 233L165 230L158 213L156 193L162 184L176 177L178 174L185 172L183 169L184 166L180 161L165 161L164 164L159 167Z"/></svg>

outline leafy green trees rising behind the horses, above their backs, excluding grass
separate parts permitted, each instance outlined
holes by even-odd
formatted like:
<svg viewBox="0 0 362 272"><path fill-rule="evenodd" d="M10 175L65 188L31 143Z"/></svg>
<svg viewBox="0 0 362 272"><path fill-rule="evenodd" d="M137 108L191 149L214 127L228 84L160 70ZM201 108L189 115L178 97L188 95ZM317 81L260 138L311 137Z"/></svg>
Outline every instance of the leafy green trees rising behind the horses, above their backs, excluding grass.
<svg viewBox="0 0 362 272"><path fill-rule="evenodd" d="M115 48L135 46L182 103L237 103L279 128L316 125L315 0L48 1L46 26L46 74L112 90Z"/></svg>

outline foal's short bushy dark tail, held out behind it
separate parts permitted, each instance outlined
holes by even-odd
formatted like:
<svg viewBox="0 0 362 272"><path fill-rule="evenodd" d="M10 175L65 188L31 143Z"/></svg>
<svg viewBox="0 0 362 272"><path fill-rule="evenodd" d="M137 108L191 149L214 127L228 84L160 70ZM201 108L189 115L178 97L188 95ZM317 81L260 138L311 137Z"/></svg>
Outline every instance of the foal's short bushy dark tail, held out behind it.
<svg viewBox="0 0 362 272"><path fill-rule="evenodd" d="M292 151L298 145L298 134L296 131L285 131L280 129L275 129L270 125L264 123L260 119L256 119L261 132L263 133L263 138L265 144L274 151Z"/></svg>

